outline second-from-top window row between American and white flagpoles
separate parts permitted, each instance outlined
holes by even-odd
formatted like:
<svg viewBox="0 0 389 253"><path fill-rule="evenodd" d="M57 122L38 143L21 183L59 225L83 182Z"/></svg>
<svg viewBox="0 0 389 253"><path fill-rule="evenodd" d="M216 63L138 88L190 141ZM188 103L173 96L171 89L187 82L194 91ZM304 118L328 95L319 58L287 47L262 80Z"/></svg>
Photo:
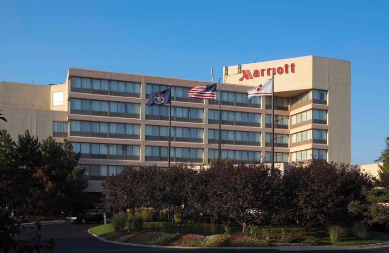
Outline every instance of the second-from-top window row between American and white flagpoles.
<svg viewBox="0 0 389 253"><path fill-rule="evenodd" d="M238 111L221 111L222 121L260 123L261 113L248 113ZM208 110L209 120L219 120L218 110ZM211 123L209 123L211 124Z"/></svg>

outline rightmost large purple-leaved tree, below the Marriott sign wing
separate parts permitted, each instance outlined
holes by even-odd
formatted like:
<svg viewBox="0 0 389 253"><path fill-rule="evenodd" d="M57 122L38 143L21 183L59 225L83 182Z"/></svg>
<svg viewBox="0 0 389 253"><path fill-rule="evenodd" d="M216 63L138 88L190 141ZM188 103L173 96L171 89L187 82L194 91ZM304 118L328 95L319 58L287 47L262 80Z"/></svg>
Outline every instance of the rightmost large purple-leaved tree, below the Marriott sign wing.
<svg viewBox="0 0 389 253"><path fill-rule="evenodd" d="M314 225L347 221L348 203L362 198L363 186L372 187L370 175L322 159L296 164L285 173L284 180L288 215L307 231Z"/></svg>

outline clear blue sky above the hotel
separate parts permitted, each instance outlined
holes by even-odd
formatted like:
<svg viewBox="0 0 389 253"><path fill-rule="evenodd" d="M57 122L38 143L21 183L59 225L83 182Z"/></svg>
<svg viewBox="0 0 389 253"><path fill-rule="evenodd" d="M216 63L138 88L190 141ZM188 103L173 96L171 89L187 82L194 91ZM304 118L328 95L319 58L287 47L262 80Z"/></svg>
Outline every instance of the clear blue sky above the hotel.
<svg viewBox="0 0 389 253"><path fill-rule="evenodd" d="M351 61L351 162L389 135L389 1L0 0L0 80L64 82L69 67L211 80L224 65ZM4 112L6 115L6 112Z"/></svg>

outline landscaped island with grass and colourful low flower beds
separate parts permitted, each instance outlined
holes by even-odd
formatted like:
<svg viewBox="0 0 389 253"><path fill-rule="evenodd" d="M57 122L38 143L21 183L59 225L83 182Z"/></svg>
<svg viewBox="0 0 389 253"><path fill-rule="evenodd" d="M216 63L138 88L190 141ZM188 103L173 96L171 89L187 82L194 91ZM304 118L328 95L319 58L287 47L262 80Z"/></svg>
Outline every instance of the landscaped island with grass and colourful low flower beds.
<svg viewBox="0 0 389 253"><path fill-rule="evenodd" d="M166 223L166 224L164 224ZM150 231L157 229L160 231ZM215 230L214 235L212 229ZM224 233L223 233L224 230ZM227 229L228 230L228 229ZM327 230L313 228L308 235L303 228L252 227L248 233L238 232L239 227L230 227L230 231L211 224L175 225L167 222L148 222L141 231L127 230L114 232L113 225L101 225L91 228L95 235L106 236L107 240L132 244L185 246L185 247L266 247L287 245L366 245L389 241L389 235L369 231L366 239L356 239L352 229L345 233L338 242L331 242ZM176 232L173 232L176 231ZM191 231L193 231L191 233ZM219 234L220 233L220 234ZM225 234L230 233L230 234Z"/></svg>

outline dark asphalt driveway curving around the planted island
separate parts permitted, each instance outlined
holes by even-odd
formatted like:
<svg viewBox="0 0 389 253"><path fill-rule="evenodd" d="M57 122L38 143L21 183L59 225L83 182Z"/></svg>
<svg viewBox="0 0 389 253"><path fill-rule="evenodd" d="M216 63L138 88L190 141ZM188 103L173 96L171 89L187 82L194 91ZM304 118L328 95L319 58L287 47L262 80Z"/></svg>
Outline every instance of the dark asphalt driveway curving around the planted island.
<svg viewBox="0 0 389 253"><path fill-rule="evenodd" d="M275 253L275 252L285 252L278 250L210 250L210 249L156 249L156 248L140 248L140 247L131 247L126 245L117 245L112 243L106 243L100 241L94 236L88 233L88 229L98 226L99 223L88 223L85 225L81 224L52 224L52 225L43 225L41 230L42 242L47 243L50 237L54 237L54 253L117 253L117 252L131 252L131 253L145 253L145 252L157 252L157 253L169 253L169 252L187 252L187 253L211 253L211 252L227 252L227 253ZM35 235L36 229L26 228L26 231L22 234L20 239L27 239ZM304 253L311 253L318 251L304 251ZM328 251L323 251L328 252ZM331 252L346 252L346 251L331 251ZM389 247L379 248L379 249L367 249L367 250L347 250L350 252L358 253L388 253ZM296 253L296 251L293 251Z"/></svg>

